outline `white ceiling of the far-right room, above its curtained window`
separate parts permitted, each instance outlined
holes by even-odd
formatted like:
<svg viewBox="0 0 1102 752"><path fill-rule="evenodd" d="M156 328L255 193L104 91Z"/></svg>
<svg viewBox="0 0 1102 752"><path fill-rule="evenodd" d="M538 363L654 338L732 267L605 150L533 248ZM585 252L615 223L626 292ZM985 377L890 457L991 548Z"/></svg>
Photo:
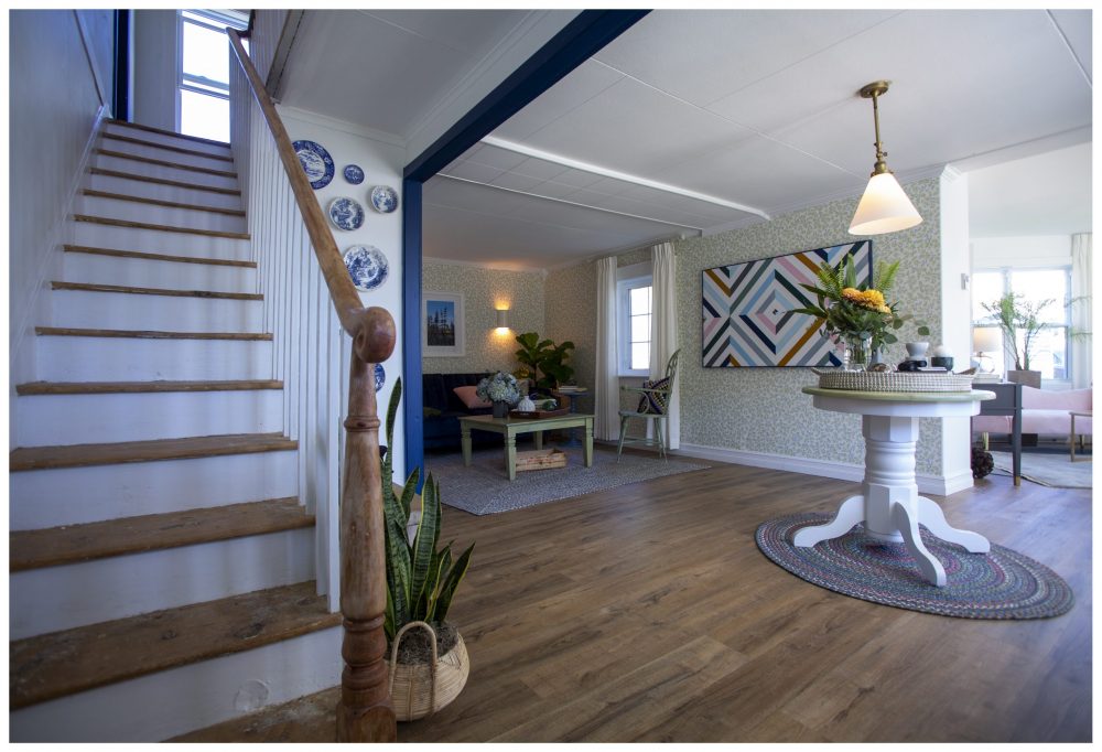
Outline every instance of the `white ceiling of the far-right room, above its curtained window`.
<svg viewBox="0 0 1102 752"><path fill-rule="evenodd" d="M1091 144L969 172L972 237L1091 232Z"/></svg>

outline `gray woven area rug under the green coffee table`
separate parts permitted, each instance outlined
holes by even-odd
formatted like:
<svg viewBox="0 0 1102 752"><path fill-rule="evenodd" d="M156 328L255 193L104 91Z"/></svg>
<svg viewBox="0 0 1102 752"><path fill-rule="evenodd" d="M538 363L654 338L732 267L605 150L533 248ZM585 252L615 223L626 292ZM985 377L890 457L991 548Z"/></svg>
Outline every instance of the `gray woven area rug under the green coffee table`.
<svg viewBox="0 0 1102 752"><path fill-rule="evenodd" d="M674 459L665 462L628 453L616 462L615 452L594 451L593 466L586 468L582 464L581 448L559 449L566 452L565 468L518 472L517 480L511 482L505 471L504 448L476 451L469 468L463 466L462 454L430 455L425 458L425 465L440 483L441 501L475 515L522 509L710 466Z"/></svg>

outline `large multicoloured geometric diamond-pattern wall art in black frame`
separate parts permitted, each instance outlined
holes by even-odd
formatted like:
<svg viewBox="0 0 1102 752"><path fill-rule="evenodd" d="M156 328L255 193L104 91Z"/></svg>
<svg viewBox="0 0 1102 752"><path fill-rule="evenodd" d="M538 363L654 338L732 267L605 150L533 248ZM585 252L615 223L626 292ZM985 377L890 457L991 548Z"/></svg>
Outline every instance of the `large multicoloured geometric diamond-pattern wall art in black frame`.
<svg viewBox="0 0 1102 752"><path fill-rule="evenodd" d="M838 366L841 347L819 332L822 319L795 309L815 302L800 283L819 284L815 269L853 257L857 284L872 284L873 241L714 267L701 272L705 368Z"/></svg>

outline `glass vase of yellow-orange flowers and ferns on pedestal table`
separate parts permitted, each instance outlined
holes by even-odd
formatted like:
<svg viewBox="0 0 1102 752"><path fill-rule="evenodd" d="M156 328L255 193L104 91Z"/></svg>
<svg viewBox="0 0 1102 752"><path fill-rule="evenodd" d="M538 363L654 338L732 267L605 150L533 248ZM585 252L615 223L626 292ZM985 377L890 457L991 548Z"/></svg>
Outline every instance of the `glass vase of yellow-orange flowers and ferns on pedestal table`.
<svg viewBox="0 0 1102 752"><path fill-rule="evenodd" d="M892 289L899 261L876 265L872 284L857 284L853 259L846 256L836 267L823 261L815 270L819 284L800 284L814 293L815 305L796 309L796 313L815 316L822 322L822 336L830 337L843 347L842 365L852 370L864 370L873 353L898 342L894 332L912 316L896 311L896 303L888 303L885 293ZM916 322L918 333L928 335L929 326Z"/></svg>

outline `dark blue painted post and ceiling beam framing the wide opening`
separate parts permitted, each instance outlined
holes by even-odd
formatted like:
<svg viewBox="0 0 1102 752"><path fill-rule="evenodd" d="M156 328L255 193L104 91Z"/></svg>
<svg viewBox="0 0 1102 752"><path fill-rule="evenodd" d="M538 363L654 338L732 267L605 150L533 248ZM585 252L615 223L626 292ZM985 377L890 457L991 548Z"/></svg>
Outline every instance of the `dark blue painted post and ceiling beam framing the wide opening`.
<svg viewBox="0 0 1102 752"><path fill-rule="evenodd" d="M649 10L579 13L447 132L406 165L402 176L402 374L406 473L424 460L421 393L421 187L484 136L630 29Z"/></svg>

